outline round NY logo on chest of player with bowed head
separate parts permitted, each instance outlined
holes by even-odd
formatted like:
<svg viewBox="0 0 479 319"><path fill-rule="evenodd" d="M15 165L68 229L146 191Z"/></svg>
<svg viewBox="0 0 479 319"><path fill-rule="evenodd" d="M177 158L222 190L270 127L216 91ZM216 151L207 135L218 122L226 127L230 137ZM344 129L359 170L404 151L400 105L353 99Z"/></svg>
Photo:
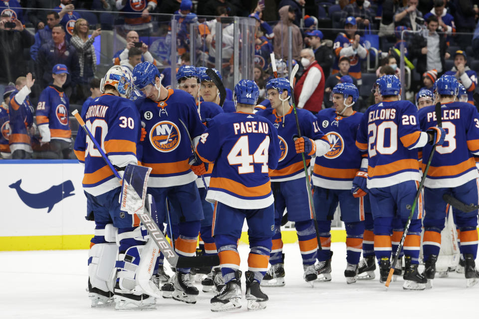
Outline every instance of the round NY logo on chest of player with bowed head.
<svg viewBox="0 0 479 319"><path fill-rule="evenodd" d="M173 122L158 122L150 131L150 143L160 152L174 151L180 145L180 141L180 130Z"/></svg>

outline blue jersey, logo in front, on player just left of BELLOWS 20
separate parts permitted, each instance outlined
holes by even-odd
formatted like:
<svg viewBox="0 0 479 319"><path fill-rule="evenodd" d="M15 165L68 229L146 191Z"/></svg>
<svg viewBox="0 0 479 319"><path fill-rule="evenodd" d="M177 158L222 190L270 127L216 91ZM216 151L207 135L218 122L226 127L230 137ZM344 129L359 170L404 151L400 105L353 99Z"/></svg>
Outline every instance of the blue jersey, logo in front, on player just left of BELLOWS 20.
<svg viewBox="0 0 479 319"><path fill-rule="evenodd" d="M334 109L325 109L319 111L316 118L331 150L324 156L316 157L313 184L330 189L351 189L356 172L361 167L361 159L367 157L355 145L363 114L354 112L342 117Z"/></svg>

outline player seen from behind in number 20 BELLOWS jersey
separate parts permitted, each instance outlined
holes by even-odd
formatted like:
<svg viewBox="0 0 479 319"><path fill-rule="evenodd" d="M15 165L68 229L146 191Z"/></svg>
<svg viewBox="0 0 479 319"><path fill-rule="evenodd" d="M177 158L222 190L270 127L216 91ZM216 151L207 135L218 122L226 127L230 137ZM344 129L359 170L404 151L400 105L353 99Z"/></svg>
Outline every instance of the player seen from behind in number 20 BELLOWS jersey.
<svg viewBox="0 0 479 319"><path fill-rule="evenodd" d="M401 82L395 75L381 77L378 88L382 102L368 108L356 136L358 149L368 152L368 169L355 177L352 189L358 194L366 189L369 192L374 218L374 251L379 261L380 281L385 282L391 264L394 218L400 218L404 227L421 179L417 149L427 143L442 145L445 131L435 126L427 132L420 130L417 107L409 101L399 100ZM418 271L422 216L420 196L404 242L403 288L407 290L426 288L427 280Z"/></svg>

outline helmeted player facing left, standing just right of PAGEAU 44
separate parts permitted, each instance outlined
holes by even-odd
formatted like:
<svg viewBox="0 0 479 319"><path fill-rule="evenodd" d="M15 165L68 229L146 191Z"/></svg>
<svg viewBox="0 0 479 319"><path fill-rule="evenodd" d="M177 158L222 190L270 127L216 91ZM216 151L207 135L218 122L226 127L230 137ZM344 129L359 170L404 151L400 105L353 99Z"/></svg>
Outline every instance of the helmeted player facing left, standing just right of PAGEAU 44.
<svg viewBox="0 0 479 319"><path fill-rule="evenodd" d="M268 100L271 108L256 112L273 123L278 133L281 155L276 169L269 170L271 189L274 196L274 235L269 263L271 267L261 282L262 286L284 286L284 254L281 240L281 221L284 210L287 219L294 221L298 234L299 250L303 262L303 278L312 282L317 278L314 263L318 250L316 231L306 187L306 177L300 152L296 152L297 138L296 120L290 105L291 87L285 78L271 79L266 84ZM306 144L306 162L311 156L322 156L329 150L329 144L323 139L318 129L316 118L311 112L297 110L299 126L304 135L302 143ZM298 139L300 143L300 139ZM307 181L309 182L309 181Z"/></svg>

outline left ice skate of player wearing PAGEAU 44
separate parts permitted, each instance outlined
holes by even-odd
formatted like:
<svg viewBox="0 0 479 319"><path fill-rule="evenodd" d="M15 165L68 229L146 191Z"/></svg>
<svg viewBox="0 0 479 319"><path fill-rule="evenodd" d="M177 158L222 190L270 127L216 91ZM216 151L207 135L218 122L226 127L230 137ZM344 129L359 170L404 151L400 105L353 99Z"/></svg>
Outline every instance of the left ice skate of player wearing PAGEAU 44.
<svg viewBox="0 0 479 319"><path fill-rule="evenodd" d="M235 272L235 279L223 286L220 294L210 301L212 312L230 311L241 308L241 273Z"/></svg>

